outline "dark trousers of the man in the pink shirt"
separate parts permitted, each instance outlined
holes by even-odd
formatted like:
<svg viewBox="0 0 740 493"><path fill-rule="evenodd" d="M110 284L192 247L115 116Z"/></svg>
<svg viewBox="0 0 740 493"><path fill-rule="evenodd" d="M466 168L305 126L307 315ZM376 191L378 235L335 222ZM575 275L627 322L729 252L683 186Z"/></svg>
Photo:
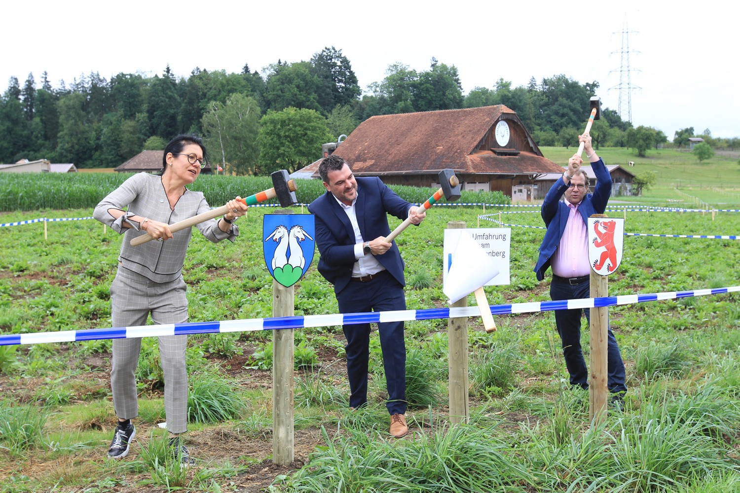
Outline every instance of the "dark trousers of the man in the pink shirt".
<svg viewBox="0 0 740 493"><path fill-rule="evenodd" d="M553 279L550 284L550 297L553 301L563 299L583 299L591 297L588 281L577 285L570 285ZM562 341L562 355L565 356L565 366L571 374L571 385L578 385L588 389L588 369L581 350L581 310L586 314L586 321L591 323L591 310L577 308L574 310L555 310L555 324ZM616 339L607 328L607 388L609 392L627 392L625 386L625 363L616 345Z"/></svg>

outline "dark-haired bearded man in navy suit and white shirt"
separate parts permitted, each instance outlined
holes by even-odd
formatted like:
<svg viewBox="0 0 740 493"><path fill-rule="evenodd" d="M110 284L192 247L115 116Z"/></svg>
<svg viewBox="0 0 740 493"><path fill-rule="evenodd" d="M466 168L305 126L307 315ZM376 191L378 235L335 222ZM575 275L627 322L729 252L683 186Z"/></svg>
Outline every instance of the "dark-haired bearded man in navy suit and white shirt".
<svg viewBox="0 0 740 493"><path fill-rule="evenodd" d="M309 205L316 220L318 270L334 285L340 313L406 310L403 259L391 233L388 217L408 217L419 224L426 213L398 197L377 177L356 178L349 165L332 154L322 160L319 174L326 194ZM370 324L342 327L347 339L349 407L367 403ZM388 386L386 407L391 435L408 433L406 424L406 343L403 322L378 323L383 367Z"/></svg>

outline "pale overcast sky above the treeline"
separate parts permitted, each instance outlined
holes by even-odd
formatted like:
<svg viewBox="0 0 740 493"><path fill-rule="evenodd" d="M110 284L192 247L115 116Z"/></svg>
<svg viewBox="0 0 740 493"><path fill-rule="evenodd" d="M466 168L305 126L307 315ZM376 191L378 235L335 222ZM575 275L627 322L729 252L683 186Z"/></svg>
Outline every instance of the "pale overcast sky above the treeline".
<svg viewBox="0 0 740 493"><path fill-rule="evenodd" d="M388 65L429 69L432 57L455 65L463 93L564 74L598 81L602 106L619 109L622 30L629 30L632 122L669 139L678 129L740 136L738 8L647 0L602 2L374 2L225 0L4 2L1 90L11 76L53 86L98 72L186 77L195 67L261 70L279 58L305 60L324 47L342 50L360 87L381 81ZM177 8L175 8L175 6ZM626 60L625 60L626 61ZM627 86L627 73L622 85ZM613 88L613 89L611 89ZM622 93L622 118L628 118ZM588 108L584 108L584 124Z"/></svg>

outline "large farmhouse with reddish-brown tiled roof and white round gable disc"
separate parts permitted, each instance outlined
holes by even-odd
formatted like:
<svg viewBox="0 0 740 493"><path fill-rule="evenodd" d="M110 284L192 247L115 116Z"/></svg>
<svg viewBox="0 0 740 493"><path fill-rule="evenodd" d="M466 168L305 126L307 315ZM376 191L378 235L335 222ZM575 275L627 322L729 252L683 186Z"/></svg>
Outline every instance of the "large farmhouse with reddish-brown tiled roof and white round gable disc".
<svg viewBox="0 0 740 493"><path fill-rule="evenodd" d="M437 173L449 168L463 189L498 190L514 194L514 200L531 200L540 175L562 174L542 155L517 114L503 105L377 115L360 123L334 154L360 177L437 187ZM315 170L313 176L318 176Z"/></svg>

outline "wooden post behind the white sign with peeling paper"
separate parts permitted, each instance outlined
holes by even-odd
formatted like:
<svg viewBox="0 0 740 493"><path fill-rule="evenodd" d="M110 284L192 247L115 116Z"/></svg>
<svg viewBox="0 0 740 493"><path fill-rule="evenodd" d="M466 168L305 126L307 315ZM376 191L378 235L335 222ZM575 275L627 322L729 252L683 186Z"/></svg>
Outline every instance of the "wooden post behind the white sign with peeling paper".
<svg viewBox="0 0 740 493"><path fill-rule="evenodd" d="M465 229L465 221L450 221L448 229ZM451 307L468 306L468 296L454 302ZM468 318L456 317L447 322L449 350L449 397L450 422L467 423L470 418L468 407Z"/></svg>

